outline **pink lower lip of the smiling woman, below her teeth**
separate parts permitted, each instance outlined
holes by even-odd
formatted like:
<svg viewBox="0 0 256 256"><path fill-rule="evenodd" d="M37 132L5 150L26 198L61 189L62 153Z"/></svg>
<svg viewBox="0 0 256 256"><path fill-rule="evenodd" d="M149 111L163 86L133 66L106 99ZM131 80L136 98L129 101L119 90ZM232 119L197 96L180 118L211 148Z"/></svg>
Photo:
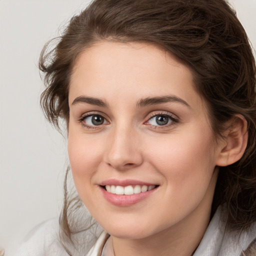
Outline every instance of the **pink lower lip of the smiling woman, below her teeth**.
<svg viewBox="0 0 256 256"><path fill-rule="evenodd" d="M157 189L157 187L149 191L129 195L109 193L102 186L100 186L100 189L104 198L111 204L117 206L130 206L150 196Z"/></svg>

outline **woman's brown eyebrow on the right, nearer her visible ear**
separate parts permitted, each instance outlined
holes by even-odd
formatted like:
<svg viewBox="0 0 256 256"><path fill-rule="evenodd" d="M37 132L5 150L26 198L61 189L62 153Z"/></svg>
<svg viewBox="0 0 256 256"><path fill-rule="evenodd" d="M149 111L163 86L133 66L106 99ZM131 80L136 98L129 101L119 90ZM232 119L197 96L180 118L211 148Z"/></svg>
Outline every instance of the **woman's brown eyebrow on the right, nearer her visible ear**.
<svg viewBox="0 0 256 256"><path fill-rule="evenodd" d="M175 95L142 98L138 100L136 106L142 107L142 106L155 105L155 104L166 103L166 102L178 102L190 108L190 105L185 100Z"/></svg>

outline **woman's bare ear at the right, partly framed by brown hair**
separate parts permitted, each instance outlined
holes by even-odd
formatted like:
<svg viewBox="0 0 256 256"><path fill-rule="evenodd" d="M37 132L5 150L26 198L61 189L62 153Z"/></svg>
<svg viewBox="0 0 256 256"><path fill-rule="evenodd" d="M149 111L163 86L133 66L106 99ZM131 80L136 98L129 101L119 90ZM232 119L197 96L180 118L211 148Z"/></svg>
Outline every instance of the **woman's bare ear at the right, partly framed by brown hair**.
<svg viewBox="0 0 256 256"><path fill-rule="evenodd" d="M221 139L219 143L220 148L216 165L226 166L238 161L244 153L247 141L247 121L243 116L236 114L228 121L223 140Z"/></svg>

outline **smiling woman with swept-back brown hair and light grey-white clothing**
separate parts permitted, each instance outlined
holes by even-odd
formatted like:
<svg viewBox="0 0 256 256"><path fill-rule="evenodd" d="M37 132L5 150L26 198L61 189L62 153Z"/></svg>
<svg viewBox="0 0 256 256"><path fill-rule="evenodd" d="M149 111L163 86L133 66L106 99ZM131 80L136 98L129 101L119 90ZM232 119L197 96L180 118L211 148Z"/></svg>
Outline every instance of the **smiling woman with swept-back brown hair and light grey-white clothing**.
<svg viewBox="0 0 256 256"><path fill-rule="evenodd" d="M255 254L255 61L225 1L95 0L39 66L78 196L19 255Z"/></svg>

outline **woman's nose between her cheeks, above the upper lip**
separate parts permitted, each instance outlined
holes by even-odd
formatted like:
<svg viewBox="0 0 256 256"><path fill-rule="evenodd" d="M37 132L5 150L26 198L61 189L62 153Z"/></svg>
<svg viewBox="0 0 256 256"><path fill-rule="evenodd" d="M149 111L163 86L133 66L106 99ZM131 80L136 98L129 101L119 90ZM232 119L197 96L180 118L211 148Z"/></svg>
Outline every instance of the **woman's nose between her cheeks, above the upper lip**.
<svg viewBox="0 0 256 256"><path fill-rule="evenodd" d="M105 159L108 165L117 170L128 170L139 166L143 157L136 131L116 128L108 137Z"/></svg>

